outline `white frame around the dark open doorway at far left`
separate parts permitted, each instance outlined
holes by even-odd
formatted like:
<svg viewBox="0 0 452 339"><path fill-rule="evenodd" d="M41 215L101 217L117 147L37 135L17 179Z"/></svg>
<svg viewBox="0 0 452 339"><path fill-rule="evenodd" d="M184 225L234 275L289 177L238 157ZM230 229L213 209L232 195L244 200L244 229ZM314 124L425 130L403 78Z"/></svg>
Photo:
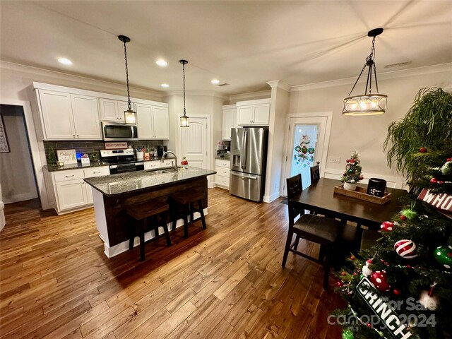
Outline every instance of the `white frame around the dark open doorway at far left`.
<svg viewBox="0 0 452 339"><path fill-rule="evenodd" d="M30 101L0 98L0 105L20 106L23 108L25 129L27 130L28 140L30 141L31 157L34 167L33 170L35 172L35 179L37 183L37 194L40 197L41 208L46 210L50 207L47 199L47 189L44 182L42 167L47 165L47 160L45 158L44 143L38 142L37 140L35 121L33 120Z"/></svg>

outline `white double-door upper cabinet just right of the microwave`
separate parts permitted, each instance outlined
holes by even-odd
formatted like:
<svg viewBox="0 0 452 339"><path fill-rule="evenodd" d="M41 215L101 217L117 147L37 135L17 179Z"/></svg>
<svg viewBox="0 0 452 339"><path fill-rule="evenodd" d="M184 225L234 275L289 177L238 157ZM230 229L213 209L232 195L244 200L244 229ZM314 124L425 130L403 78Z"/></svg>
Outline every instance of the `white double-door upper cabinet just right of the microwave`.
<svg viewBox="0 0 452 339"><path fill-rule="evenodd" d="M136 119L140 140L169 139L168 107L136 104Z"/></svg>

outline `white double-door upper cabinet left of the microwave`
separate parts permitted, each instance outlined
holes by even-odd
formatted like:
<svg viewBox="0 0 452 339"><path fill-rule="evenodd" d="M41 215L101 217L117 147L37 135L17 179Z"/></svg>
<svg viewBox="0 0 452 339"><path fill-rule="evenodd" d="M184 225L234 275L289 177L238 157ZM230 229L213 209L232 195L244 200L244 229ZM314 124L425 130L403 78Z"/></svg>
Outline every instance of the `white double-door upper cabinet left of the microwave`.
<svg viewBox="0 0 452 339"><path fill-rule="evenodd" d="M97 97L36 90L44 140L101 140Z"/></svg>

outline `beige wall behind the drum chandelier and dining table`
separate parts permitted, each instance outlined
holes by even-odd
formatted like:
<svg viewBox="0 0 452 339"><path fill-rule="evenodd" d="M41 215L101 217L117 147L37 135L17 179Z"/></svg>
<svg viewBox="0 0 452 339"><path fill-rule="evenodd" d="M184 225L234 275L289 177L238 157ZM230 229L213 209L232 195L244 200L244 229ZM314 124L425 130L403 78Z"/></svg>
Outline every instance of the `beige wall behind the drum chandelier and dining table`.
<svg viewBox="0 0 452 339"><path fill-rule="evenodd" d="M391 186L401 187L404 179L395 170L389 169L383 152L388 125L405 117L420 88L450 88L451 65L379 74L380 93L388 95L388 107L383 115L342 115L343 99L348 96L353 79L292 88L289 113L333 112L328 156L340 157L340 163L321 164L326 169L326 177L340 177L345 168L345 160L350 157L353 148L356 148L364 177L381 177L391 182ZM359 94L359 90L364 92L364 84L358 83L354 94Z"/></svg>

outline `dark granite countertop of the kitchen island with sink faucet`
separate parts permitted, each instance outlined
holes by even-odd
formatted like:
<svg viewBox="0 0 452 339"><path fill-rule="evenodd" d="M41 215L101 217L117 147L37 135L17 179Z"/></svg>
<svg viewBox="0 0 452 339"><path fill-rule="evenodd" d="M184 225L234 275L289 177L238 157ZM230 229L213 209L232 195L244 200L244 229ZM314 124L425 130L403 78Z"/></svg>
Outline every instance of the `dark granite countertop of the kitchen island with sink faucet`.
<svg viewBox="0 0 452 339"><path fill-rule="evenodd" d="M181 168L181 167L179 167ZM127 194L135 191L141 191L150 187L167 186L175 182L206 177L215 174L210 169L184 166L178 172L174 172L172 167L167 169L160 168L153 171L136 171L121 174L104 175L102 177L93 177L84 179L87 184L93 186L97 191L105 196L114 196L117 194ZM162 173L165 171L165 173ZM158 174L153 174L157 172Z"/></svg>

